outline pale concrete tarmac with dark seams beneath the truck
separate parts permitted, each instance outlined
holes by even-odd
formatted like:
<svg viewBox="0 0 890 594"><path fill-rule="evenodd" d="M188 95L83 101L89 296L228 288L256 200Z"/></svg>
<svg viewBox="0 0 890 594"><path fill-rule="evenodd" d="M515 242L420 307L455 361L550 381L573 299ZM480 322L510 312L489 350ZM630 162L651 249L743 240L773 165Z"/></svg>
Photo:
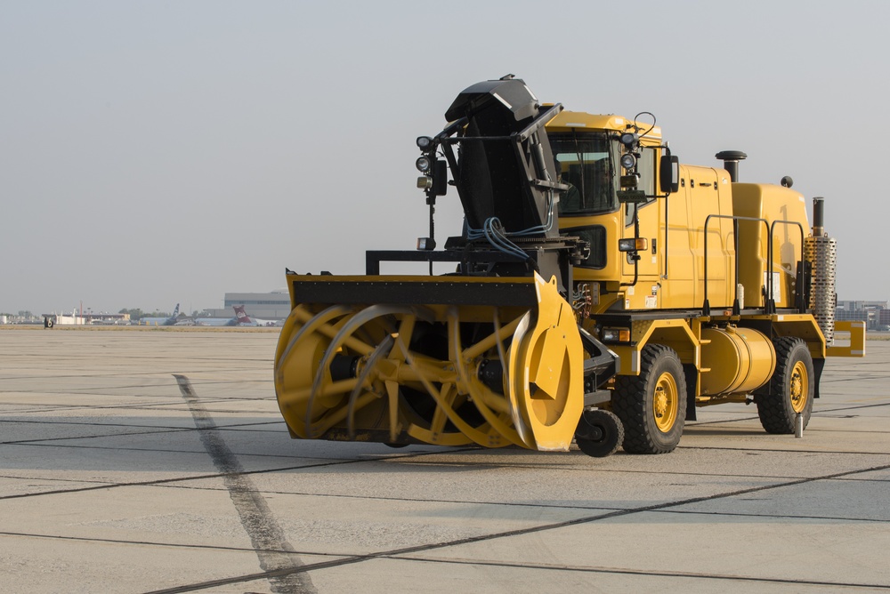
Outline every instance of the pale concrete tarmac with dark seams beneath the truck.
<svg viewBox="0 0 890 594"><path fill-rule="evenodd" d="M292 440L278 334L187 330L0 330L0 591L890 590L890 342L593 459Z"/></svg>

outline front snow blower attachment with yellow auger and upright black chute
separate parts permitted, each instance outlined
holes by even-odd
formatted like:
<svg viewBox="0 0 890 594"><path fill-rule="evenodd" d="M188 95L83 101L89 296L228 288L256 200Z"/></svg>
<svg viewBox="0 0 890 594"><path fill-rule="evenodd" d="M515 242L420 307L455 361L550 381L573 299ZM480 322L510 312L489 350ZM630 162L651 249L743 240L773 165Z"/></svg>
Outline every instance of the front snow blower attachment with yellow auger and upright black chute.
<svg viewBox="0 0 890 594"><path fill-rule="evenodd" d="M288 271L275 389L293 437L564 451L581 422L586 452L620 446L614 423L582 418L614 359L566 298L587 244L558 232L567 187L544 125L560 109L512 77L471 86L417 141L431 221L450 170L464 234L440 252L368 252L365 276ZM431 276L381 276L383 260L429 261ZM433 261L457 271L433 277Z"/></svg>

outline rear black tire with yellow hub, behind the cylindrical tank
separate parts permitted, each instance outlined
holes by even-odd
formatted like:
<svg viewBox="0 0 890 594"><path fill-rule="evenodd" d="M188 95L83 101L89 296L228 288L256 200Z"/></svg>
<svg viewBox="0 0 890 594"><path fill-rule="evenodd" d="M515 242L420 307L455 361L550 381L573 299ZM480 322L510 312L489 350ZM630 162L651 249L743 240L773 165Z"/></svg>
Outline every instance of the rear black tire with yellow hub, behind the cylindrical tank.
<svg viewBox="0 0 890 594"><path fill-rule="evenodd" d="M769 389L755 394L760 424L767 433L794 433L797 414L804 417L804 427L813 412L813 392L816 376L813 357L805 341L793 336L782 336L773 341L776 349L776 369L770 378Z"/></svg>

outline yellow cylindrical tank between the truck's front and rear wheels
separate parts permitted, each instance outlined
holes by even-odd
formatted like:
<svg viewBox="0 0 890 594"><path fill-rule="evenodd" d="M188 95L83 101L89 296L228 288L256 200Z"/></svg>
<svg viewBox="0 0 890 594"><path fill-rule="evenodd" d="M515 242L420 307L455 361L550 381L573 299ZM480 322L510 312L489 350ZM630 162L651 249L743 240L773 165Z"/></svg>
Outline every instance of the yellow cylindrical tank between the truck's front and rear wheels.
<svg viewBox="0 0 890 594"><path fill-rule="evenodd" d="M703 328L701 394L747 394L769 381L776 366L773 342L751 328Z"/></svg>

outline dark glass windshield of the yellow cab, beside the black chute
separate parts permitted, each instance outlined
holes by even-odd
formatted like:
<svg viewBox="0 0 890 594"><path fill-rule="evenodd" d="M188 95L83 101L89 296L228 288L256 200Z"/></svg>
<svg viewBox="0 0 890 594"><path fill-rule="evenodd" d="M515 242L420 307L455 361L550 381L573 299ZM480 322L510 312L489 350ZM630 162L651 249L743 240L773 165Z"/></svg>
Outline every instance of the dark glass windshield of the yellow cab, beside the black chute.
<svg viewBox="0 0 890 594"><path fill-rule="evenodd" d="M559 180L569 186L559 202L560 216L618 210L610 141L605 132L550 132Z"/></svg>

